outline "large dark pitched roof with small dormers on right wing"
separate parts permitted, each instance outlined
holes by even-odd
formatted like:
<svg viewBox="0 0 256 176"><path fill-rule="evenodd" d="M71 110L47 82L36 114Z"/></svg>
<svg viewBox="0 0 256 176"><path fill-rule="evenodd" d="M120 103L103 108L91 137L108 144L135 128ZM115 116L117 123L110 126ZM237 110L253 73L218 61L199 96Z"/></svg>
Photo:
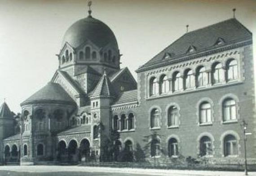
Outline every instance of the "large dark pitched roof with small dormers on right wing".
<svg viewBox="0 0 256 176"><path fill-rule="evenodd" d="M223 43L216 44L220 39ZM186 57L248 39L252 39L252 33L237 19L231 18L182 35L137 71L161 62L169 62L178 57ZM189 52L189 48L193 48L193 51ZM171 57L166 57L167 54Z"/></svg>

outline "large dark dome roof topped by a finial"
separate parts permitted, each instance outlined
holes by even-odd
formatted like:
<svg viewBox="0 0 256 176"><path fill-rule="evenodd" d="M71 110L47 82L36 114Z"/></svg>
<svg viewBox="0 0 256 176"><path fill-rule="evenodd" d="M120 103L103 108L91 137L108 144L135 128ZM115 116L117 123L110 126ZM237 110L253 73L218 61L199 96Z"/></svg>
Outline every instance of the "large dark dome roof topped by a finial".
<svg viewBox="0 0 256 176"><path fill-rule="evenodd" d="M87 40L90 40L98 47L105 47L107 44L112 43L113 47L118 50L113 31L105 23L90 15L87 18L78 20L68 28L62 40L62 47L68 42L72 47L77 48Z"/></svg>

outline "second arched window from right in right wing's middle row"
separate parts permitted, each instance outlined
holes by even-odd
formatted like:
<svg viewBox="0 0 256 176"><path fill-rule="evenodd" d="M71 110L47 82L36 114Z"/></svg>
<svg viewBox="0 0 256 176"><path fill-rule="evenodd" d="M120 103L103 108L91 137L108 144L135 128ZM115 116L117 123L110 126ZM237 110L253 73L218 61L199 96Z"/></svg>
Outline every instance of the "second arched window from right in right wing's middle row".
<svg viewBox="0 0 256 176"><path fill-rule="evenodd" d="M200 107L200 123L209 123L212 122L211 118L211 104L208 102L203 102Z"/></svg>

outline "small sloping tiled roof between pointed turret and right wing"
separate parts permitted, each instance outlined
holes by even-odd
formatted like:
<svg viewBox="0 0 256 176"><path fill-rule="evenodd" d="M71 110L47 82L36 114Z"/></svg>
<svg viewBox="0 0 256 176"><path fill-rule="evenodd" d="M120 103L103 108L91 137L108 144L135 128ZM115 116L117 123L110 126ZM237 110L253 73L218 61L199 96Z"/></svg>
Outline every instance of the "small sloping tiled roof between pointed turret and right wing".
<svg viewBox="0 0 256 176"><path fill-rule="evenodd" d="M130 90L126 92L121 92L119 97L117 97L114 105L123 104L123 103L129 103L134 102L137 100L137 90Z"/></svg>

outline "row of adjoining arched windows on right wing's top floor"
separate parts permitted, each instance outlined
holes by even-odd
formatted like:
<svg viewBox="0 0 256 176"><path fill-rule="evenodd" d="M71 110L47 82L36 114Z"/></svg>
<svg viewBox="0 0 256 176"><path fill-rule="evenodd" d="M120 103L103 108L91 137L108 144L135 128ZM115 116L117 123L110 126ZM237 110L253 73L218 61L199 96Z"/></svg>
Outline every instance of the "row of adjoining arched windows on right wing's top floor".
<svg viewBox="0 0 256 176"><path fill-rule="evenodd" d="M212 70L207 71L204 66L193 70L186 69L183 76L180 71L174 71L172 78L167 75L161 75L159 80L152 76L149 80L149 96L164 94L168 92L179 92L190 88L201 88L208 84L221 84L238 79L238 62L235 59L230 59L223 67L220 62L212 64Z"/></svg>

